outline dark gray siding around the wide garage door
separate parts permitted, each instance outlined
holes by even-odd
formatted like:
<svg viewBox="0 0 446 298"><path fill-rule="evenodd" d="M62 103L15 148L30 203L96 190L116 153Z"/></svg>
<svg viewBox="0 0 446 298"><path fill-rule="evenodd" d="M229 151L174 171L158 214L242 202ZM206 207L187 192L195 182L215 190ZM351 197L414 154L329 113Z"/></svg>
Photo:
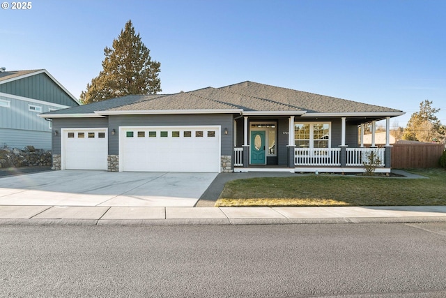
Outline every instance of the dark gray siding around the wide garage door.
<svg viewBox="0 0 446 298"><path fill-rule="evenodd" d="M222 126L222 155L233 156L233 115L232 114L176 114L176 115L118 115L109 117L109 154L119 154L119 126ZM224 135L224 128L228 134Z"/></svg>

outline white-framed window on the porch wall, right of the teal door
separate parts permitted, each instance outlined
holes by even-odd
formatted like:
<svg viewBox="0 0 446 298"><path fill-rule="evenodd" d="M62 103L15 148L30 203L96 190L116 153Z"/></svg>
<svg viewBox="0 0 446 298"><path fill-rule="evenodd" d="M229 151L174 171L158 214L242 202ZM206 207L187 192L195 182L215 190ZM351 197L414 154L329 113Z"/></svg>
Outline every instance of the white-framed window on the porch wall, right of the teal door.
<svg viewBox="0 0 446 298"><path fill-rule="evenodd" d="M297 123L294 125L297 148L330 148L330 123Z"/></svg>

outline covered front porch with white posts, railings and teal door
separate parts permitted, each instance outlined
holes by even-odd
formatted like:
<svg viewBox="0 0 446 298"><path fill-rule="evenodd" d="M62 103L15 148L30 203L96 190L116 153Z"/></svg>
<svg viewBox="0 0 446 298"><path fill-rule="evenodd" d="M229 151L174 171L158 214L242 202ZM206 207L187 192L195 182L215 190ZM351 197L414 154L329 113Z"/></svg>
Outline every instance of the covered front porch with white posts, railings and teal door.
<svg viewBox="0 0 446 298"><path fill-rule="evenodd" d="M362 117L364 123L348 117L323 120L302 118L296 120L294 115L290 115L282 119L261 120L259 117L244 116L243 122L234 121L234 144L240 144L242 139L237 134L243 135L242 146L233 149L234 172L360 173L365 172L371 162L376 173L390 172L390 117L381 117L385 119L384 147L377 147L374 137L370 147L364 146L364 125L370 123L374 135L376 118ZM300 140L302 123L312 124L307 125L311 128L308 132L311 142ZM241 124L243 130L237 128Z"/></svg>

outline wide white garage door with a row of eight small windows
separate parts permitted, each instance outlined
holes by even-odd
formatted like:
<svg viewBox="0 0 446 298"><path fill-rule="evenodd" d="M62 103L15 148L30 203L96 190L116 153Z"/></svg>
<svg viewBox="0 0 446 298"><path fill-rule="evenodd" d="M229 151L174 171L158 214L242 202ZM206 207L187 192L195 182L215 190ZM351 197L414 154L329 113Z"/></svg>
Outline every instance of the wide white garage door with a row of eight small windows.
<svg viewBox="0 0 446 298"><path fill-rule="evenodd" d="M220 126L121 127L120 165L135 172L220 172Z"/></svg>

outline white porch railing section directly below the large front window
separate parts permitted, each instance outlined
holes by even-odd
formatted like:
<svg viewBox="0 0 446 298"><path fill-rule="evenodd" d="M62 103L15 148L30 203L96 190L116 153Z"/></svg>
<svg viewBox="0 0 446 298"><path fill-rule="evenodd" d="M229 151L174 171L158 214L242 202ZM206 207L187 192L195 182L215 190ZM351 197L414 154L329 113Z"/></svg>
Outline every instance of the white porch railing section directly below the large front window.
<svg viewBox="0 0 446 298"><path fill-rule="evenodd" d="M340 148L295 148L294 165L341 165Z"/></svg>

